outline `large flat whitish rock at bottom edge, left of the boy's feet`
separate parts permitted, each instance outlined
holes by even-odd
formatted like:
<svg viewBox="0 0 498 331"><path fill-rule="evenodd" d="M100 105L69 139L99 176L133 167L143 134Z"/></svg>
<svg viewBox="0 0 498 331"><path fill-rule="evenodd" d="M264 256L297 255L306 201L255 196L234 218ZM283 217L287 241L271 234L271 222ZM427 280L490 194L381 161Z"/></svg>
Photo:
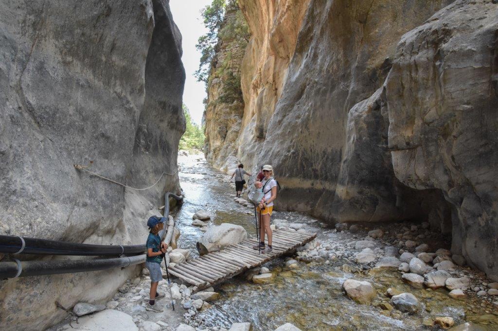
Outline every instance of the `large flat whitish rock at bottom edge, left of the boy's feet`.
<svg viewBox="0 0 498 331"><path fill-rule="evenodd" d="M67 330L120 330L138 331L133 318L128 314L106 309L93 315L78 319L78 323L72 323Z"/></svg>

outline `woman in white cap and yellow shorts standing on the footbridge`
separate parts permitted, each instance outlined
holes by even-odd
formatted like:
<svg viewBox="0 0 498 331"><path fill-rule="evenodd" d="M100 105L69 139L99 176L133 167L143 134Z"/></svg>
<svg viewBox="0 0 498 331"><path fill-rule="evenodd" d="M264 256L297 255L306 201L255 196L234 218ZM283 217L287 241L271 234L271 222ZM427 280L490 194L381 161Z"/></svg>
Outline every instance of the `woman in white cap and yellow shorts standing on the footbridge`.
<svg viewBox="0 0 498 331"><path fill-rule="evenodd" d="M264 178L262 180L264 197L257 206L259 213L259 244L253 249L262 249L262 253L269 253L273 250L272 233L270 228L270 217L273 211L273 200L277 197L277 181L273 178L273 168L271 165L263 165ZM268 237L268 247L264 247L264 234Z"/></svg>

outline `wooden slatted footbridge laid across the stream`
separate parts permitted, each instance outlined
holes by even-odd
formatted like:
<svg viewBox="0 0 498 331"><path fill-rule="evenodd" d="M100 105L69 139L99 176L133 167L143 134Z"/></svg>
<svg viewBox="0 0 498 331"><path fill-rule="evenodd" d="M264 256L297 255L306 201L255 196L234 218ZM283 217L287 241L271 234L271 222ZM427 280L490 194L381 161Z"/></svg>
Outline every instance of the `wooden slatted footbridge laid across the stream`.
<svg viewBox="0 0 498 331"><path fill-rule="evenodd" d="M202 290L291 252L315 238L316 233L274 230L273 251L270 253L263 254L259 253L257 249L252 249L252 246L256 245L258 241L247 239L221 251L201 255L198 258L168 267L168 271L187 283L195 285L196 290Z"/></svg>

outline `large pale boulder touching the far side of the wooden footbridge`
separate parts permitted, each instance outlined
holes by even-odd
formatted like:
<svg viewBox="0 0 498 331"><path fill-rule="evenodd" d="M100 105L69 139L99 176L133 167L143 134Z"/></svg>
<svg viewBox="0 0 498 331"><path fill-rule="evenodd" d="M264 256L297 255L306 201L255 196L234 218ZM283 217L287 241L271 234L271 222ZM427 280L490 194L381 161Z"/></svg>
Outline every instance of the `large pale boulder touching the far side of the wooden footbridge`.
<svg viewBox="0 0 498 331"><path fill-rule="evenodd" d="M197 242L199 254L219 251L229 245L236 245L247 239L246 230L240 226L229 223L208 228Z"/></svg>

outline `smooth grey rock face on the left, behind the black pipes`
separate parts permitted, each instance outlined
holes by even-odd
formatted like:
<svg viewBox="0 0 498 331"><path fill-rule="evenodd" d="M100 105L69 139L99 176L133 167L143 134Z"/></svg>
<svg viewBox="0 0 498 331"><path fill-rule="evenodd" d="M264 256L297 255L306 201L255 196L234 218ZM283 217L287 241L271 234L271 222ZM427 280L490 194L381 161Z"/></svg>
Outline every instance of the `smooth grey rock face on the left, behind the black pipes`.
<svg viewBox="0 0 498 331"><path fill-rule="evenodd" d="M143 243L164 191L177 192L185 130L168 2L2 1L0 21L0 234ZM135 191L73 167L90 161L131 187L160 180ZM0 281L12 312L0 327L43 330L66 316L54 300L106 302L137 268Z"/></svg>

